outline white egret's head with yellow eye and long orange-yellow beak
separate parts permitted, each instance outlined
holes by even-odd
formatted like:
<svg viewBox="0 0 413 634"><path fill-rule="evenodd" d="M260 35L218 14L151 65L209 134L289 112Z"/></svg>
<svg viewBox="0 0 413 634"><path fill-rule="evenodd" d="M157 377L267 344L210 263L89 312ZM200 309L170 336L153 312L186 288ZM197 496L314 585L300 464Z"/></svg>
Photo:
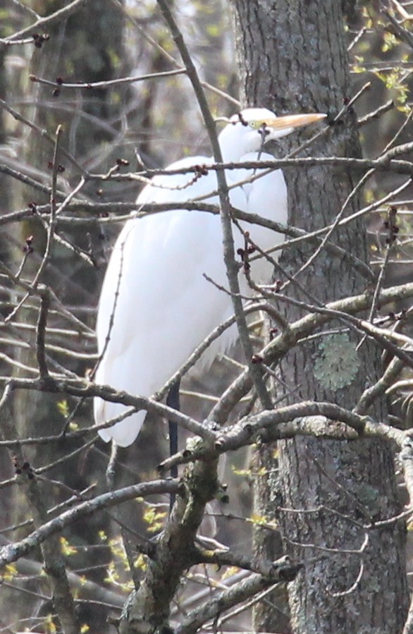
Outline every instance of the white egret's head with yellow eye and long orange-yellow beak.
<svg viewBox="0 0 413 634"><path fill-rule="evenodd" d="M247 108L234 114L219 135L224 161L239 161L247 152L258 152L267 141L292 133L295 128L321 121L326 114L276 116L266 108Z"/></svg>

